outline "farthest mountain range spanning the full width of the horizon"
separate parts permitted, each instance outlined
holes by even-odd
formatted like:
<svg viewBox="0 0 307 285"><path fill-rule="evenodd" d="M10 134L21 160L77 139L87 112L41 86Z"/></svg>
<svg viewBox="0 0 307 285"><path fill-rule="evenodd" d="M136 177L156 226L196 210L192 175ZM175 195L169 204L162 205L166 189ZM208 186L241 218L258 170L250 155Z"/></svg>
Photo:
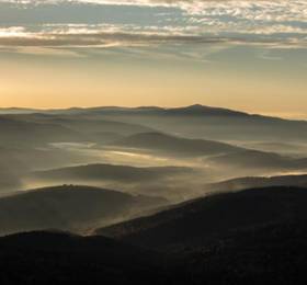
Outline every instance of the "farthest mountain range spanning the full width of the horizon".
<svg viewBox="0 0 307 285"><path fill-rule="evenodd" d="M2 110L2 113L12 113L15 118L27 117L37 119L37 110ZM61 122L69 127L88 124L89 129L99 126L99 122L105 122L110 126L114 124L114 132L133 130L133 133L152 132L180 135L187 138L209 138L220 141L261 142L261 144L298 144L307 138L307 122L291 121L278 117L248 114L245 112L212 107L204 105L191 105L175 109L157 106L148 107L92 107L68 110L39 110L41 114L61 117ZM109 122L109 123L107 123ZM117 125L116 122L122 126ZM104 124L105 124L104 123ZM132 126L134 125L134 126ZM140 126L141 125L141 126ZM102 132L103 123L101 123ZM143 130L140 128L143 127ZM109 128L109 127L106 127ZM136 128L139 132L135 132ZM144 128L147 128L145 130ZM149 130L151 129L151 130ZM113 130L111 130L113 132ZM117 133L117 132L115 132ZM117 133L120 134L120 133Z"/></svg>

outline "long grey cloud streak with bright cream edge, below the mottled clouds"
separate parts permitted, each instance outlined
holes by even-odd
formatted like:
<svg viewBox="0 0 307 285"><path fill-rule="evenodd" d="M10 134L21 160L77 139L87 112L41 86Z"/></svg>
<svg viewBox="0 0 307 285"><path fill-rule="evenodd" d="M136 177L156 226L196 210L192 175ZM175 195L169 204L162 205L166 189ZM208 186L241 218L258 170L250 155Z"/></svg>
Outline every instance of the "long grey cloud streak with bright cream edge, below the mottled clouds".
<svg viewBox="0 0 307 285"><path fill-rule="evenodd" d="M89 29L70 25L54 31L27 32L24 27L0 30L0 46L36 46L36 47L112 47L112 46L146 46L146 45L206 45L206 44L252 44L263 46L288 45L304 46L305 33L271 27L269 31L252 34L232 33L231 35L190 33L184 29L149 27L135 30L133 26L103 25ZM129 32L128 32L129 31ZM271 33L278 31L280 36L272 37ZM281 31L284 31L282 34ZM286 33L286 34L285 34ZM285 36L286 35L286 36Z"/></svg>

